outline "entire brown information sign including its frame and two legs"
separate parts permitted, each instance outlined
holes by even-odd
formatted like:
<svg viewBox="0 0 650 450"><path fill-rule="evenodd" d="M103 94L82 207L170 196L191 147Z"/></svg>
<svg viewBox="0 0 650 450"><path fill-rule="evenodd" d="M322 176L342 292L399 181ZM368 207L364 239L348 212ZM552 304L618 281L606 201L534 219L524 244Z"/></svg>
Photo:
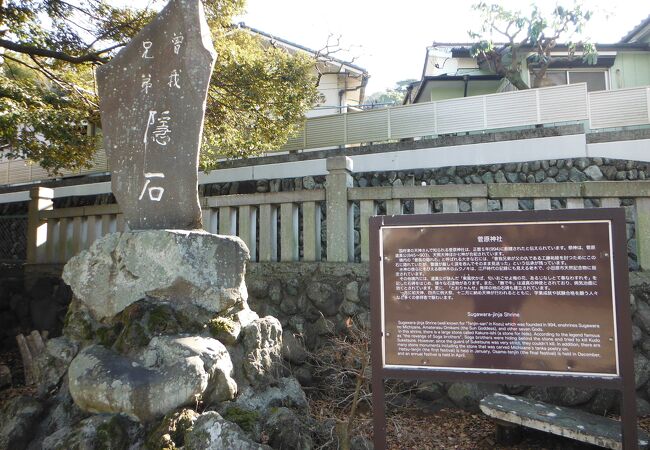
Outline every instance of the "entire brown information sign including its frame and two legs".
<svg viewBox="0 0 650 450"><path fill-rule="evenodd" d="M622 208L370 219L374 444L384 380L622 392L638 448Z"/></svg>

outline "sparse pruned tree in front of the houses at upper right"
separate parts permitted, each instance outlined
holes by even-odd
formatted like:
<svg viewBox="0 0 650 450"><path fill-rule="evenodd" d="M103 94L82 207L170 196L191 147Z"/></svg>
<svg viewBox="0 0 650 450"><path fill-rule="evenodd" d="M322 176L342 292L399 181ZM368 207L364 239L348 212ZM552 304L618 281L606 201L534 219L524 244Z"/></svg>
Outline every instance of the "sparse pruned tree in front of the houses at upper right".
<svg viewBox="0 0 650 450"><path fill-rule="evenodd" d="M534 4L528 13L485 2L477 3L473 8L480 13L483 25L479 32L469 32L476 41L472 55L477 57L480 65L505 77L517 89L542 85L549 65L556 59L551 52L560 40L567 46L564 57L581 57L589 64L597 61L593 44L573 41L580 36L592 16L591 11L578 3L571 8L558 5L548 16ZM524 58L528 58L532 86L528 86L521 76L522 70L526 69Z"/></svg>

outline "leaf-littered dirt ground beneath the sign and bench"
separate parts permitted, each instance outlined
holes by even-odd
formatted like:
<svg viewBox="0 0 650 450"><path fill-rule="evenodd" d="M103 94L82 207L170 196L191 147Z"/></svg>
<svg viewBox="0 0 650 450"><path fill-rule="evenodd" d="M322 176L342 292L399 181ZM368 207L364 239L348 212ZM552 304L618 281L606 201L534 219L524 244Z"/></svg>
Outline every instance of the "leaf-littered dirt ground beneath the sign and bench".
<svg viewBox="0 0 650 450"><path fill-rule="evenodd" d="M22 361L18 350L0 352L0 364L10 367L13 386L0 390L0 408L12 397L29 395L34 388L25 387ZM310 402L312 413L319 418L344 419L345 412L336 411L323 400ZM641 428L650 432L650 417L640 418ZM494 423L481 413L458 409L441 409L424 414L421 410L398 408L387 417L388 447L390 450L588 450L598 449L591 445L552 436L547 433L524 429L523 440L513 446L495 442ZM372 412L363 411L356 420L355 432L372 439Z"/></svg>

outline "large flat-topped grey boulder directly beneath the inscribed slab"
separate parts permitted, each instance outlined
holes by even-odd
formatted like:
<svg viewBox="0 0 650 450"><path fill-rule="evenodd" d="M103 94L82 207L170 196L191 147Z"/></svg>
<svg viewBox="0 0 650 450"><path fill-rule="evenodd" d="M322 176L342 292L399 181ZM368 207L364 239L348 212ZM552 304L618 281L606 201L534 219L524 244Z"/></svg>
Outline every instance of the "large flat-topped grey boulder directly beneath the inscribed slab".
<svg viewBox="0 0 650 450"><path fill-rule="evenodd" d="M219 313L246 300L241 239L204 231L113 233L70 259L63 279L96 320L148 297Z"/></svg>

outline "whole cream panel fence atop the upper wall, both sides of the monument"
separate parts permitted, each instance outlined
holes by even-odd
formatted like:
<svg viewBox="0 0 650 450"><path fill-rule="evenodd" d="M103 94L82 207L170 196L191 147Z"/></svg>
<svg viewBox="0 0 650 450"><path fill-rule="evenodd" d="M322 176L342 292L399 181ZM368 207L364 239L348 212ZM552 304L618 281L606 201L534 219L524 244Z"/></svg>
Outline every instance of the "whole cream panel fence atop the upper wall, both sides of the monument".
<svg viewBox="0 0 650 450"><path fill-rule="evenodd" d="M305 119L279 151L384 142L538 124L588 121L593 130L650 125L650 87L587 93L585 83L479 95L379 110ZM64 176L107 171L97 152L93 168ZM48 178L25 161L0 162L0 185Z"/></svg>

